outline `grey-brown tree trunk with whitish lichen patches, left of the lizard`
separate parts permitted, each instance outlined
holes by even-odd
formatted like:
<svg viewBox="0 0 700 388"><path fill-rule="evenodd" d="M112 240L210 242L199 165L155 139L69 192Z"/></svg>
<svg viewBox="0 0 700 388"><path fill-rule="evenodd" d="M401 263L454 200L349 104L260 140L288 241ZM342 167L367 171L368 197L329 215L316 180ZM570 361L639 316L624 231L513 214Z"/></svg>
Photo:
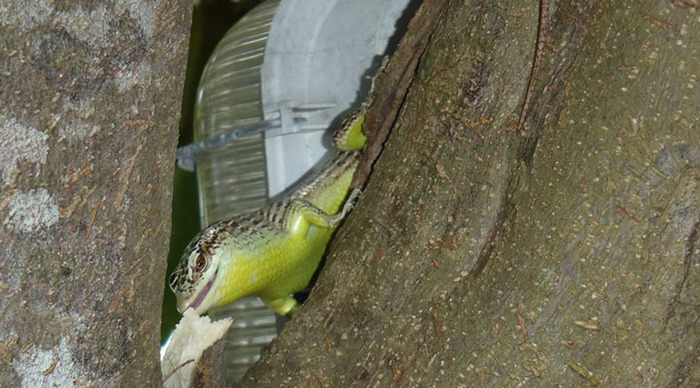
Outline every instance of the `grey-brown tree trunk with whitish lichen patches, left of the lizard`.
<svg viewBox="0 0 700 388"><path fill-rule="evenodd" d="M159 384L190 8L0 3L0 386Z"/></svg>

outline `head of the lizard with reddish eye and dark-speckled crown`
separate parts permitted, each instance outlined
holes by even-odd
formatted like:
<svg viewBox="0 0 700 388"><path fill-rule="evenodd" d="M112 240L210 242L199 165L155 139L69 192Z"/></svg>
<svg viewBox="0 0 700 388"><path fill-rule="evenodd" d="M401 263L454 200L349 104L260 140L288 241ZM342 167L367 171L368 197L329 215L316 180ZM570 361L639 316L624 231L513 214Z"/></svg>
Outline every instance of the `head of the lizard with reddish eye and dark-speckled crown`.
<svg viewBox="0 0 700 388"><path fill-rule="evenodd" d="M214 224L197 235L187 246L177 269L170 275L170 289L177 297L177 309L192 308L204 314L218 305L212 289L219 274L219 227Z"/></svg>

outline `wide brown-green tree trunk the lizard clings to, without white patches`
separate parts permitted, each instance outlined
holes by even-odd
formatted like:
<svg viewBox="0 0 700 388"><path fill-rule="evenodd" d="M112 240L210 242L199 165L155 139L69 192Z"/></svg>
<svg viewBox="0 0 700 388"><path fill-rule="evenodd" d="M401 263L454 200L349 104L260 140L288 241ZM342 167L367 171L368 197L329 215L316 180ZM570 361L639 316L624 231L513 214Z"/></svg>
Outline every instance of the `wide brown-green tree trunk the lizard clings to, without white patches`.
<svg viewBox="0 0 700 388"><path fill-rule="evenodd" d="M243 385L700 385L697 2L550 4L520 130L538 15L451 2Z"/></svg>

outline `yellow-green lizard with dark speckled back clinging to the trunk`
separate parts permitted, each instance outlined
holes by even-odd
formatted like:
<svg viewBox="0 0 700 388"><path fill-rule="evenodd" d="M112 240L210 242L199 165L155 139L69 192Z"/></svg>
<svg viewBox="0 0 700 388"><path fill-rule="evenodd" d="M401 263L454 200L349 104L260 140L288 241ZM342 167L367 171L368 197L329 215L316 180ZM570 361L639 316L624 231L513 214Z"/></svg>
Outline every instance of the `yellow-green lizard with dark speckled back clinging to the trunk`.
<svg viewBox="0 0 700 388"><path fill-rule="evenodd" d="M348 189L366 141L363 123L362 113L346 120L334 136L335 157L282 200L218 221L192 240L170 276L180 312L201 315L248 295L281 315L298 307L291 294L308 285L360 194Z"/></svg>

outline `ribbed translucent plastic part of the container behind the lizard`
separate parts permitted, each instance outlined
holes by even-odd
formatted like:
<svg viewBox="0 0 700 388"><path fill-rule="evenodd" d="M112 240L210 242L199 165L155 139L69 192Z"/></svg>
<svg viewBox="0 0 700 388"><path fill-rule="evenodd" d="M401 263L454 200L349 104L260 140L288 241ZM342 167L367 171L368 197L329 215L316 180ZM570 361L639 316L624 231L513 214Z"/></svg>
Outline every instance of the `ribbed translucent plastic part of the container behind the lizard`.
<svg viewBox="0 0 700 388"><path fill-rule="evenodd" d="M195 141L214 139L263 121L260 70L279 0L266 1L236 23L204 69L194 115ZM265 139L236 139L197 154L201 224L259 209L267 202ZM231 316L224 360L227 381L238 381L277 331L275 315L258 298L244 298L211 314Z"/></svg>

